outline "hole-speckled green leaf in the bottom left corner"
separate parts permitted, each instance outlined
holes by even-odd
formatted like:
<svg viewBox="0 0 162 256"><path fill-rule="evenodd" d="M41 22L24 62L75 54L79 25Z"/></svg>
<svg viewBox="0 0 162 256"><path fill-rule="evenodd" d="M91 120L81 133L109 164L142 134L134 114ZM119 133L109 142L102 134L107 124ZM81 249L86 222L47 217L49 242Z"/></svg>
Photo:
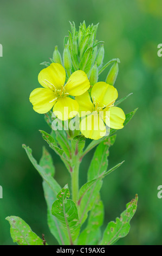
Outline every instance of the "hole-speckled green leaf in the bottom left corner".
<svg viewBox="0 0 162 256"><path fill-rule="evenodd" d="M22 218L10 216L5 218L10 223L10 233L13 242L18 245L43 245L42 239L37 236Z"/></svg>

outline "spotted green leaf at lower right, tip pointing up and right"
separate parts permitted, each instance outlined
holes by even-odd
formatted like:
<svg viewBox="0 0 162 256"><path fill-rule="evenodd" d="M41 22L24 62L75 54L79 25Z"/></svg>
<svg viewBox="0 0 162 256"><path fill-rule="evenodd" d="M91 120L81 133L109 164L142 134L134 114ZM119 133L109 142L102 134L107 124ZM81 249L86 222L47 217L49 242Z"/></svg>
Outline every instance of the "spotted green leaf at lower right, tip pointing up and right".
<svg viewBox="0 0 162 256"><path fill-rule="evenodd" d="M129 222L137 210L138 196L135 196L130 203L126 205L126 210L122 212L120 218L116 218L116 222L109 222L107 228L103 233L102 241L100 245L113 245L121 237L128 234L130 229Z"/></svg>

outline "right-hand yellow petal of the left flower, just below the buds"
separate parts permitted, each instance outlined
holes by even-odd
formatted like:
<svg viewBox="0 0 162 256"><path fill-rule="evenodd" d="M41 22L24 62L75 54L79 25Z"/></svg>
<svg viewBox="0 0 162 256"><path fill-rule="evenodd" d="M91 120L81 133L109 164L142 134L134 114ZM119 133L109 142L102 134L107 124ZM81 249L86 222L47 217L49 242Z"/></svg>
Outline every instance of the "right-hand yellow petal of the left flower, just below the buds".
<svg viewBox="0 0 162 256"><path fill-rule="evenodd" d="M85 93L89 87L90 83L86 73L82 70L77 70L69 77L65 89L69 95L80 96Z"/></svg>

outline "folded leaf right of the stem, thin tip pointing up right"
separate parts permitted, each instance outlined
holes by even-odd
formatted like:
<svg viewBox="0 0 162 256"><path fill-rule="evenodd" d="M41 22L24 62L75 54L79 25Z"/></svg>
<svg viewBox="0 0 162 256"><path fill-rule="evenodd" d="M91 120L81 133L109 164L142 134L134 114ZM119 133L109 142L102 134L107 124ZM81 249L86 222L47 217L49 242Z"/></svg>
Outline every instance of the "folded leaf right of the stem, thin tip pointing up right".
<svg viewBox="0 0 162 256"><path fill-rule="evenodd" d="M88 212L92 209L96 198L98 198L98 194L102 186L102 179L105 178L105 176L108 174L112 173L116 168L121 166L123 162L116 164L116 166L109 169L106 173L103 173L98 178L87 182L80 188L77 209L81 224L85 222L88 216Z"/></svg>

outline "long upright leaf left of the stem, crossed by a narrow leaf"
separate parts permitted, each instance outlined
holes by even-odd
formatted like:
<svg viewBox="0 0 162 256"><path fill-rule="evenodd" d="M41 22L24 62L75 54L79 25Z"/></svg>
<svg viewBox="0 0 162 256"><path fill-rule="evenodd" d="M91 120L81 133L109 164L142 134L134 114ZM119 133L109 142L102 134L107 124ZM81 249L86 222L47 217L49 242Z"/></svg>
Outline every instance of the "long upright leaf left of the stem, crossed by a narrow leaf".
<svg viewBox="0 0 162 256"><path fill-rule="evenodd" d="M53 179L55 168L53 166L51 156L46 148L43 148L43 155L39 164L44 169L44 171ZM56 193L54 193L54 191L51 189L46 181L43 181L43 190L44 198L46 199L47 203L47 222L50 232L55 236L60 245L68 245L69 241L67 239L67 234L62 227L62 224L57 220L55 216L51 214L51 206L56 200Z"/></svg>

